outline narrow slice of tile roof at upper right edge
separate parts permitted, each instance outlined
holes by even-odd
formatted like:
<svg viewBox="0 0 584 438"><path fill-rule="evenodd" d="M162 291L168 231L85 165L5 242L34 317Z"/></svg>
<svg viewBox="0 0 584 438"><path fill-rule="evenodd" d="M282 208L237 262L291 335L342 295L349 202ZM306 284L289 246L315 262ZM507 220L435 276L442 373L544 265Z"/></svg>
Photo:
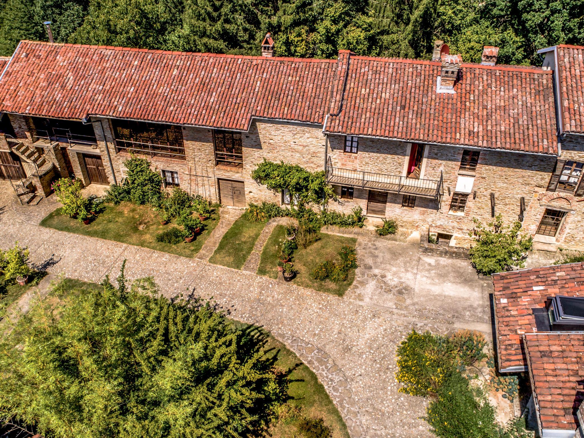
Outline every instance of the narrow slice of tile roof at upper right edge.
<svg viewBox="0 0 584 438"><path fill-rule="evenodd" d="M557 46L562 131L584 133L584 47Z"/></svg>

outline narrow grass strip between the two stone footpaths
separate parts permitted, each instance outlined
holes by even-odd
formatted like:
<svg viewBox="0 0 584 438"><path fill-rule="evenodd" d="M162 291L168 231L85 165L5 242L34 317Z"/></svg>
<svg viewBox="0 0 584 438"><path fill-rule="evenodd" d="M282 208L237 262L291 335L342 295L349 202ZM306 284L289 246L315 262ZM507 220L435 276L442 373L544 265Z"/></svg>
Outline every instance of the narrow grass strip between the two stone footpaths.
<svg viewBox="0 0 584 438"><path fill-rule="evenodd" d="M209 262L241 269L265 226L264 222L249 222L240 217L225 232Z"/></svg>

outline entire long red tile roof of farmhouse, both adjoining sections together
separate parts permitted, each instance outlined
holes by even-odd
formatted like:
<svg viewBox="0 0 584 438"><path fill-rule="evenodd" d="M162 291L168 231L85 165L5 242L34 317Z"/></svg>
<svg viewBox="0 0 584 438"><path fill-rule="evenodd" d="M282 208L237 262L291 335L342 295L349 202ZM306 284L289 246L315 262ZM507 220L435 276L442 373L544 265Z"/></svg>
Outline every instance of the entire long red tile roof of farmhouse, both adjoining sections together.
<svg viewBox="0 0 584 438"><path fill-rule="evenodd" d="M436 93L440 70L349 51L315 60L21 41L0 79L0 111L232 130L262 117L325 124L326 133L558 153L550 71L463 64L456 92Z"/></svg>

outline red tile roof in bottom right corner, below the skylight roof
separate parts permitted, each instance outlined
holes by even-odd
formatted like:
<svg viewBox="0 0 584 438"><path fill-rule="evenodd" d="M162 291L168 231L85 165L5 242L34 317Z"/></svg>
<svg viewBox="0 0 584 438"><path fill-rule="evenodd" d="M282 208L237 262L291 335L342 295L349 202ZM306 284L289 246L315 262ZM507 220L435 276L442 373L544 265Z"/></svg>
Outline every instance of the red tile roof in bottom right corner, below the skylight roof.
<svg viewBox="0 0 584 438"><path fill-rule="evenodd" d="M524 335L541 429L576 430L584 400L584 332Z"/></svg>

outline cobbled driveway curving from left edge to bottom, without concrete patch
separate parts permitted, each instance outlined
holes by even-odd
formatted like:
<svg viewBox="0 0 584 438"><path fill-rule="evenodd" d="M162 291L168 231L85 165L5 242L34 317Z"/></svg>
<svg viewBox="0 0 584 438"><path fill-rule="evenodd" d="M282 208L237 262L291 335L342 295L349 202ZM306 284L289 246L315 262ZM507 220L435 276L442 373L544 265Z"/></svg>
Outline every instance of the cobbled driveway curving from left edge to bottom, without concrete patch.
<svg viewBox="0 0 584 438"><path fill-rule="evenodd" d="M15 208L9 185L2 183L0 248L18 240L34 263L85 281L108 273L115 278L127 259L128 278L153 276L166 296L213 297L230 317L274 333L315 371L352 437L432 437L421 419L426 401L398 392L395 350L412 329L447 332L453 321L475 324L473 315L462 312L449 321L447 314L408 314L361 300L363 284L354 299L343 299L203 260L42 228L36 224L56 204L49 199Z"/></svg>

